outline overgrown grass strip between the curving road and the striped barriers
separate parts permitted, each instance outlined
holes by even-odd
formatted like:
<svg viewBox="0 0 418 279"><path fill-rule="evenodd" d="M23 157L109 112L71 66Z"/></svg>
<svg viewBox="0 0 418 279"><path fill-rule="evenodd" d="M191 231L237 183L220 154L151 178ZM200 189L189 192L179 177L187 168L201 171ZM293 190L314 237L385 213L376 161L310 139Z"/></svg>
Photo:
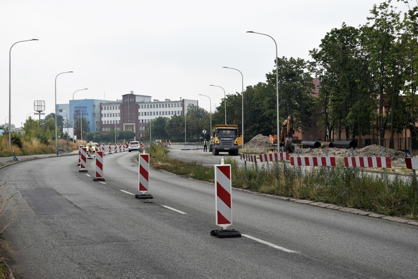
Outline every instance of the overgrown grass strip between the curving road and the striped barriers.
<svg viewBox="0 0 418 279"><path fill-rule="evenodd" d="M153 168L214 182L214 169L211 167L172 159L166 149L154 145L149 152ZM259 168L258 174L254 166L247 167L247 171L239 167L234 157L226 156L225 164L231 164L232 185L235 188L418 219L418 198L411 178L405 181L395 176L389 179L386 189L383 174L369 174L359 168L355 174L353 168L342 165L330 168L329 183L325 167L303 171L301 181L299 168L283 162L270 164L270 172Z"/></svg>

